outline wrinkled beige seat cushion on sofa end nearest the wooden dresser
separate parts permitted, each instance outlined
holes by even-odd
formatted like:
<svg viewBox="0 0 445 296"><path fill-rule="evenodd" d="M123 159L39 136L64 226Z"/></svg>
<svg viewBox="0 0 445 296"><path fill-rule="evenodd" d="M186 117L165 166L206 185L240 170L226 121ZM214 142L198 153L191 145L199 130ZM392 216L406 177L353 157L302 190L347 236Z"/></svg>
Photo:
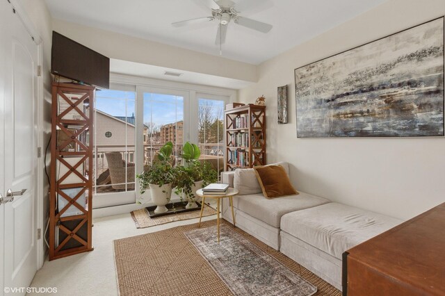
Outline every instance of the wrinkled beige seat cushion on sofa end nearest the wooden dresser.
<svg viewBox="0 0 445 296"><path fill-rule="evenodd" d="M281 229L341 259L346 250L401 222L393 217L331 202L283 215Z"/></svg>

